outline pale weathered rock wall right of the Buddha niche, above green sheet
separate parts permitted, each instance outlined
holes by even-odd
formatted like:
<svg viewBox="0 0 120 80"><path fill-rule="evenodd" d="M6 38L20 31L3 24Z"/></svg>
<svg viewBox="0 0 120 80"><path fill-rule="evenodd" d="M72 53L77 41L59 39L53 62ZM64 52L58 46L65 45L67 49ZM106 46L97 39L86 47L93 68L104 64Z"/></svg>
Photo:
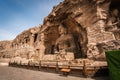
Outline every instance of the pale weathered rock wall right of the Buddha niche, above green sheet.
<svg viewBox="0 0 120 80"><path fill-rule="evenodd" d="M118 1L101 0L97 4L97 22L87 28L88 57L94 59L105 58L106 50L118 50L119 35L119 7ZM101 47L100 47L101 46Z"/></svg>

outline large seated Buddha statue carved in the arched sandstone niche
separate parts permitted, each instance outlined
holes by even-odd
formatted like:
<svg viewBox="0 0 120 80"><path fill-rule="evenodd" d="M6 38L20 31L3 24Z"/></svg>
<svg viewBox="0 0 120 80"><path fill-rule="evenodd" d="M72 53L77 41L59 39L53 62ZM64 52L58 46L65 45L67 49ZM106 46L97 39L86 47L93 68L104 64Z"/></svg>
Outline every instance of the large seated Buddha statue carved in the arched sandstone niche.
<svg viewBox="0 0 120 80"><path fill-rule="evenodd" d="M73 36L68 33L67 27L62 24L59 26L59 33L60 37L56 40L56 48L59 52L58 57L65 60L68 58L73 60L76 49Z"/></svg>

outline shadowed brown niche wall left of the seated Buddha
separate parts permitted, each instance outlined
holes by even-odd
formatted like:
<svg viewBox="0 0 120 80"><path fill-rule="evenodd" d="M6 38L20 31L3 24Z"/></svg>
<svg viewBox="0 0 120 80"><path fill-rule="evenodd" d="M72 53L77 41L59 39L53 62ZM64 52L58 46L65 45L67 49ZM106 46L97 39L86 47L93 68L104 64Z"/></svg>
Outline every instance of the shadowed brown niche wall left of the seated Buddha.
<svg viewBox="0 0 120 80"><path fill-rule="evenodd" d="M57 26L46 28L44 35L45 54L54 54L55 42L59 37Z"/></svg>

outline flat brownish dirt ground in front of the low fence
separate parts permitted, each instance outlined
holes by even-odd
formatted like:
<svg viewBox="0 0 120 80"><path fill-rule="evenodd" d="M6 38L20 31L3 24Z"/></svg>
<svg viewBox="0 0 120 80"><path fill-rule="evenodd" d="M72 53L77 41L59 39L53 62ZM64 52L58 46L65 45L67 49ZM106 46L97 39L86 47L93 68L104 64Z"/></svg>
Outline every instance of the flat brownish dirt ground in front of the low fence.
<svg viewBox="0 0 120 80"><path fill-rule="evenodd" d="M109 80L107 77L81 78L22 68L0 66L0 80Z"/></svg>

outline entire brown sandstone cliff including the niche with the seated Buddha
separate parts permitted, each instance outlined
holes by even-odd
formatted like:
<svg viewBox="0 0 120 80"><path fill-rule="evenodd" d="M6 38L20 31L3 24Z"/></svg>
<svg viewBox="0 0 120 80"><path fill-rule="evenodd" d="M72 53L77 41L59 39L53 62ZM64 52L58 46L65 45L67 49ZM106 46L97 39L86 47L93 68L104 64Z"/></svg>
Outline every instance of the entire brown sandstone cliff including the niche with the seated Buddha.
<svg viewBox="0 0 120 80"><path fill-rule="evenodd" d="M61 54L104 60L105 50L120 50L119 2L64 0L45 17L43 25L19 34L11 50L14 56L28 59L56 60Z"/></svg>

